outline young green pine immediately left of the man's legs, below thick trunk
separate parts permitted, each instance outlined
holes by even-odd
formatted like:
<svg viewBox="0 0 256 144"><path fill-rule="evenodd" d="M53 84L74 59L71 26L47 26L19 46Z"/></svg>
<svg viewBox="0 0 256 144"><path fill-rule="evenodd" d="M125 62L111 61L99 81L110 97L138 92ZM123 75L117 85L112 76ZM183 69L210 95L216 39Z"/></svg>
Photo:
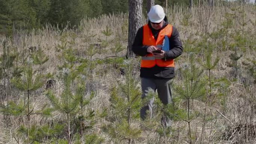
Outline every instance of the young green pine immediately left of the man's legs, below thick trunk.
<svg viewBox="0 0 256 144"><path fill-rule="evenodd" d="M127 140L128 144L132 139L138 138L141 130L134 126L140 119L141 92L137 82L132 77L132 61L124 62L125 80L119 82L117 87L112 88L111 106L115 122L109 125L109 134L117 141Z"/></svg>

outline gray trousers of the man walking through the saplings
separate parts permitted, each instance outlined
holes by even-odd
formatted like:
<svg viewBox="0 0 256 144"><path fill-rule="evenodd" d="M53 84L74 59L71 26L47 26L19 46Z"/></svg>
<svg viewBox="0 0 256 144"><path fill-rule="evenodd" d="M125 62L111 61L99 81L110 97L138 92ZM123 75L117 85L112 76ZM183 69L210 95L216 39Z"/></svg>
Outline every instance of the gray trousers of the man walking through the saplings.
<svg viewBox="0 0 256 144"><path fill-rule="evenodd" d="M171 79L150 79L141 77L141 89L142 96L144 98L147 96L149 89L153 89L153 91L157 90L158 97L161 99L163 104L169 104L172 102L171 96L171 88L169 86ZM146 119L146 111L149 110L150 118L152 118L153 114L153 102L154 98L150 99L149 103L141 108L140 117L141 119ZM163 116L161 119L162 124L165 126L171 125L171 120L167 116Z"/></svg>

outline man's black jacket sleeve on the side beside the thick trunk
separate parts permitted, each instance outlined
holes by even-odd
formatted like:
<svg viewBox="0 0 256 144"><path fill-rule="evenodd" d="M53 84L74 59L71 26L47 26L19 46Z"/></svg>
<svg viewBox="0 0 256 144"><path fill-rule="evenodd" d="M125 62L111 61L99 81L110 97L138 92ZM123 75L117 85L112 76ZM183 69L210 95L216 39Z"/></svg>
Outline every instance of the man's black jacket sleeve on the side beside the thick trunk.
<svg viewBox="0 0 256 144"><path fill-rule="evenodd" d="M143 46L142 41L143 41L143 27L138 29L134 39L134 43L132 45L132 51L136 55L144 56L147 54L147 48L149 46Z"/></svg>

